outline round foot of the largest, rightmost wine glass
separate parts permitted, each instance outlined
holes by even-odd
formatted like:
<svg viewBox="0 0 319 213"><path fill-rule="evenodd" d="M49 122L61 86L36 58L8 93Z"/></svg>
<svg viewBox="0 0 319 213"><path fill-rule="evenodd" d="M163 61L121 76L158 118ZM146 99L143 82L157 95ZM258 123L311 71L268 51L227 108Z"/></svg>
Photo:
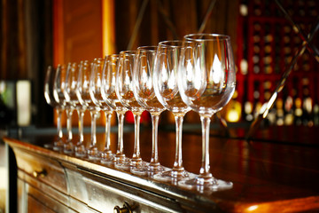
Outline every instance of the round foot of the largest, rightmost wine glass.
<svg viewBox="0 0 319 213"><path fill-rule="evenodd" d="M199 193L213 193L228 190L233 187L231 182L216 179L214 177L206 180L203 180L201 177L195 177L179 181L178 185L187 189L196 189Z"/></svg>

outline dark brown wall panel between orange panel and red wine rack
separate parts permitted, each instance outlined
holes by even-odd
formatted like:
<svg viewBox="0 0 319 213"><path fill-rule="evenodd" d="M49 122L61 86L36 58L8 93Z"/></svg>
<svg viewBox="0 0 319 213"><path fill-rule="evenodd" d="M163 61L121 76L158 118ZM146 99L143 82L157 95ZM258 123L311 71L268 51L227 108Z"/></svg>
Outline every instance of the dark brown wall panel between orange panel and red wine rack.
<svg viewBox="0 0 319 213"><path fill-rule="evenodd" d="M117 0L115 1L116 44L119 51L134 34L138 13L147 2L132 49L141 45L157 45L160 41L182 39L198 33L206 12L214 0ZM215 1L207 19L205 33L236 37L238 0ZM235 39L233 43L235 44Z"/></svg>

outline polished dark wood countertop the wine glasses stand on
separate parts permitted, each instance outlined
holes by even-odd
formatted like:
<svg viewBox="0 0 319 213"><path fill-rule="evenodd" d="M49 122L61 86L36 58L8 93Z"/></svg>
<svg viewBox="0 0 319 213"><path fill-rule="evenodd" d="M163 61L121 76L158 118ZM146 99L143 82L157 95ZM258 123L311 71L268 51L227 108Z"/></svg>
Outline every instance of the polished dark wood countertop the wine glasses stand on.
<svg viewBox="0 0 319 213"><path fill-rule="evenodd" d="M138 177L126 171L106 167L74 156L60 154L43 147L53 141L52 134L22 134L21 137L4 137L10 146L23 147L61 161L72 162L88 170L107 173L115 171L121 178L148 184L147 190L181 195L184 199L214 202L224 212L304 212L319 211L319 140L318 129L307 127L273 127L260 130L256 137L245 140L244 130L234 129L225 136L220 130L212 130L210 138L210 165L214 177L231 181L230 190L209 194L180 189L176 185L160 183L150 177ZM117 133L113 132L113 153L117 145ZM74 143L77 136L74 134ZM85 134L89 141L89 134ZM97 141L104 146L105 134L98 133ZM133 153L134 132L124 133L124 152ZM151 158L152 134L146 128L141 131L141 155L145 162ZM175 158L175 132L159 130L159 162L171 168ZM186 170L198 174L201 161L200 129L183 133L183 165ZM85 168L83 168L85 169ZM132 184L132 183L130 183ZM134 184L134 183L133 183ZM137 185L138 186L138 185ZM167 192L171 191L171 192Z"/></svg>

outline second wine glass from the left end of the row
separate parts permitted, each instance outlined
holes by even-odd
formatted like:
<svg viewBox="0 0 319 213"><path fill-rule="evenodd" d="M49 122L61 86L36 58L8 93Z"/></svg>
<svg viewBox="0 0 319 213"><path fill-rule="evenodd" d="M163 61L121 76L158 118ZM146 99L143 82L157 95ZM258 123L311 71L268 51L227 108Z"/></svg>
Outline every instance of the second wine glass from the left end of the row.
<svg viewBox="0 0 319 213"><path fill-rule="evenodd" d="M66 100L66 72L70 68L71 63L68 63L67 66L58 66L53 84L54 99L66 110L67 139L63 146L63 152L66 154L72 154L74 151L74 145L72 142L72 113L74 109Z"/></svg>

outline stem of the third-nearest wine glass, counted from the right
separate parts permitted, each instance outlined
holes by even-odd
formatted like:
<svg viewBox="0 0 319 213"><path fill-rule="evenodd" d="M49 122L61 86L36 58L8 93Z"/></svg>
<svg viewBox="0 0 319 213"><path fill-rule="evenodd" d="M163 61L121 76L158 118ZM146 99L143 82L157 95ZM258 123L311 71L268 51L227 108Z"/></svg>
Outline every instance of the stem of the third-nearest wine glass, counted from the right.
<svg viewBox="0 0 319 213"><path fill-rule="evenodd" d="M152 114L152 156L150 162L151 166L159 166L158 129L159 114Z"/></svg>

